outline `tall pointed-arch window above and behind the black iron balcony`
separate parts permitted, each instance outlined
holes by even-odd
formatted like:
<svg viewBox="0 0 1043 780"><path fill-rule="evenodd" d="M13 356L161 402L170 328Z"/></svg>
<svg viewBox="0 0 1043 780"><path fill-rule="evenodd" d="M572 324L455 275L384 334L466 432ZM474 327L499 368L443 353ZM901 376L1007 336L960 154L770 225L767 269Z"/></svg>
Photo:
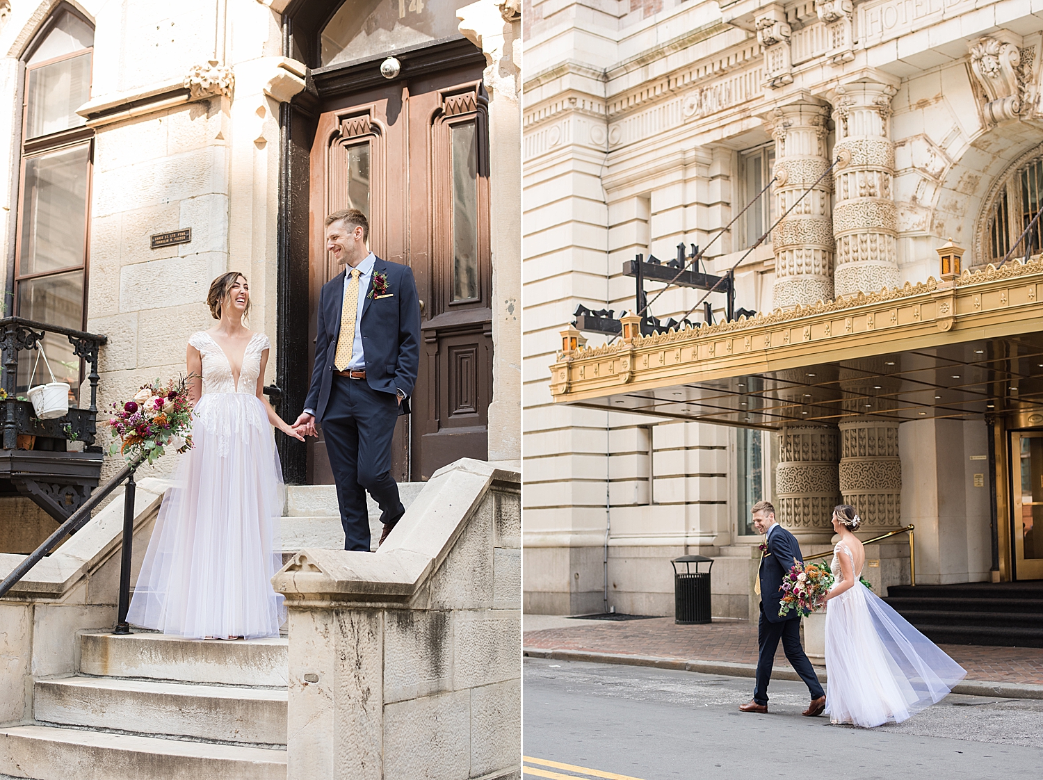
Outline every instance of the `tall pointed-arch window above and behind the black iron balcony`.
<svg viewBox="0 0 1043 780"><path fill-rule="evenodd" d="M16 312L20 317L76 330L82 330L86 317L94 138L76 109L91 97L93 46L90 23L64 8L48 20L23 56ZM55 377L60 373L59 381L68 382L75 395L80 362L69 340L48 334L44 348ZM22 363L20 392L28 386L31 370L30 361Z"/></svg>

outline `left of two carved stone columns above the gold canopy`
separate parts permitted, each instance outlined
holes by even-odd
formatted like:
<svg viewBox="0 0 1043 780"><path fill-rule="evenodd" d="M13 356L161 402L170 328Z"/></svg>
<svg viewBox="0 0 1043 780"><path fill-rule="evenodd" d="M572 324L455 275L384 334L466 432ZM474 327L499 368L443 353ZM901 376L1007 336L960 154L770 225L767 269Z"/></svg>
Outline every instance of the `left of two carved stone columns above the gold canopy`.
<svg viewBox="0 0 1043 780"><path fill-rule="evenodd" d="M812 102L774 108L766 117L775 139L776 213L782 215L828 168L827 106ZM828 176L814 186L772 234L774 304L792 309L833 298L833 228ZM750 193L753 197L754 193Z"/></svg>

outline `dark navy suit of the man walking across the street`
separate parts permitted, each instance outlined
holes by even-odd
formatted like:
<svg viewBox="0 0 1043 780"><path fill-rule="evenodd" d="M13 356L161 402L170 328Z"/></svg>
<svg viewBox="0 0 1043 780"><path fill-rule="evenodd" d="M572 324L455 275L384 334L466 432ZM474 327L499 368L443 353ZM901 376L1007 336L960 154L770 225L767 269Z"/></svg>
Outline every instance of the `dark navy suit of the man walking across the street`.
<svg viewBox="0 0 1043 780"><path fill-rule="evenodd" d="M800 545L796 537L779 525L772 526L768 531L768 552L760 560L760 620L757 624L757 683L753 689L753 701L757 704L768 704L768 683L772 678L772 664L775 661L775 651L779 639L782 640L782 651L800 679L807 684L811 699L825 696L819 678L815 676L811 662L800 647L800 612L791 610L784 617L779 617L779 604L782 601L782 578L790 574L794 560L804 562L800 554Z"/></svg>

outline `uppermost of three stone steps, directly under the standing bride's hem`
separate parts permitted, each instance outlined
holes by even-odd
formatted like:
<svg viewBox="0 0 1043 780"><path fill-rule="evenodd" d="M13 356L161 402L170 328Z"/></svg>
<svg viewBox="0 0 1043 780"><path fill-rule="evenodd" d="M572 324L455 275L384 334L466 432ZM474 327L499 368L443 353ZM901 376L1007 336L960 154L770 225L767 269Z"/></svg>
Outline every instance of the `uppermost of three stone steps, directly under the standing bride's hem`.
<svg viewBox="0 0 1043 780"><path fill-rule="evenodd" d="M165 634L83 634L79 671L94 677L137 677L214 685L286 687L286 639L185 639Z"/></svg>

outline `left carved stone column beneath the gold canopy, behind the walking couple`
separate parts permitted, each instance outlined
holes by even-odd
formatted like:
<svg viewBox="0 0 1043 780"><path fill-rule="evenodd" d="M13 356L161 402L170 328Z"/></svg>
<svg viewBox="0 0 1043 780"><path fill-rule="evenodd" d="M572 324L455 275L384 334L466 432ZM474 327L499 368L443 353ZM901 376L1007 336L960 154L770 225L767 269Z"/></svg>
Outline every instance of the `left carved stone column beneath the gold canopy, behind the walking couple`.
<svg viewBox="0 0 1043 780"><path fill-rule="evenodd" d="M835 428L784 425L779 432L775 466L775 508L778 521L804 544L828 542L829 520L840 504L836 462L840 441Z"/></svg>

